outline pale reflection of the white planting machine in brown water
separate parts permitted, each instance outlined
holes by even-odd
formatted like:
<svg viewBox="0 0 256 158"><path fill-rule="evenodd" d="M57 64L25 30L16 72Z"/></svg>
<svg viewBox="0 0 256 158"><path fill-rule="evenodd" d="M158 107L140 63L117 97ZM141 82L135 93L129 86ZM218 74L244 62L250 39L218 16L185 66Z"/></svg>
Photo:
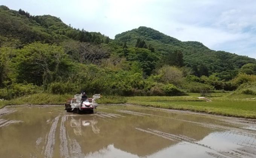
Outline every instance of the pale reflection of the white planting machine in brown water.
<svg viewBox="0 0 256 158"><path fill-rule="evenodd" d="M70 121L70 126L73 127L74 129L74 133L75 135L82 135L82 126L90 126L91 125L91 129L95 134L99 134L100 129L96 126L96 124L98 123L97 120L95 120L93 118L93 120L82 120L81 118L79 118L79 120L76 120L72 117L71 121Z"/></svg>

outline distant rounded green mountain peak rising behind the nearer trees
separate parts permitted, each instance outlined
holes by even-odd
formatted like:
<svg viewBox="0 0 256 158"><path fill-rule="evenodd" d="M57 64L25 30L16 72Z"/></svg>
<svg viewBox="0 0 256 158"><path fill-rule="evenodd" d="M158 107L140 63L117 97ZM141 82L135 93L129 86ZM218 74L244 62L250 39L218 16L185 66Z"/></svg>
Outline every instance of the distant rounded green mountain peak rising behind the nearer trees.
<svg viewBox="0 0 256 158"><path fill-rule="evenodd" d="M175 50L180 50L183 53L184 65L199 68L203 64L210 73L234 70L247 63L256 63L253 58L225 51L213 51L200 42L181 42L148 27L139 27L115 36L115 40L126 42L128 46L135 46L137 39L145 41L146 47L153 47L160 56L165 57Z"/></svg>

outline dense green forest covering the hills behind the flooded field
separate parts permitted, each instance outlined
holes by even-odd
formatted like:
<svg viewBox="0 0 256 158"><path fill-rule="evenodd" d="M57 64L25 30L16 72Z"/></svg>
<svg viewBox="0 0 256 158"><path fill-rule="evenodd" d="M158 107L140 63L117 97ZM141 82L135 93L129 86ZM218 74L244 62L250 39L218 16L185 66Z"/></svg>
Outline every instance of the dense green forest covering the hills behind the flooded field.
<svg viewBox="0 0 256 158"><path fill-rule="evenodd" d="M209 37L210 38L210 37ZM256 95L256 59L182 42L148 27L115 39L0 6L0 98L39 92Z"/></svg>

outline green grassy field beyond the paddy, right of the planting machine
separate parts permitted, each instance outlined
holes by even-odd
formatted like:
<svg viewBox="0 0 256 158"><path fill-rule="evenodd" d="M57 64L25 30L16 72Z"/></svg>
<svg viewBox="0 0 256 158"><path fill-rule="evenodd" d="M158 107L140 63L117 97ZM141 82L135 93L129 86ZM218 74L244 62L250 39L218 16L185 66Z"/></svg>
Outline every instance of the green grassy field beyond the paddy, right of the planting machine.
<svg viewBox="0 0 256 158"><path fill-rule="evenodd" d="M192 93L189 96L134 96L127 99L129 104L135 105L256 119L256 96L226 94L209 98L212 102L198 99L199 96Z"/></svg>

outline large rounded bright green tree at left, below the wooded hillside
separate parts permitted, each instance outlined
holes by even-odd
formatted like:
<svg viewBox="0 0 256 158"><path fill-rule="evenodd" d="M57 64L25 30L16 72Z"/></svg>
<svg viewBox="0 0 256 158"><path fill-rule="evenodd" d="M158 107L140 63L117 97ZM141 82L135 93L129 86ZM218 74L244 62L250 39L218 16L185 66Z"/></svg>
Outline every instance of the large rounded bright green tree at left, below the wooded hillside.
<svg viewBox="0 0 256 158"><path fill-rule="evenodd" d="M32 43L18 50L12 62L18 82L26 81L44 87L63 77L70 67L67 54L61 47L41 43Z"/></svg>

